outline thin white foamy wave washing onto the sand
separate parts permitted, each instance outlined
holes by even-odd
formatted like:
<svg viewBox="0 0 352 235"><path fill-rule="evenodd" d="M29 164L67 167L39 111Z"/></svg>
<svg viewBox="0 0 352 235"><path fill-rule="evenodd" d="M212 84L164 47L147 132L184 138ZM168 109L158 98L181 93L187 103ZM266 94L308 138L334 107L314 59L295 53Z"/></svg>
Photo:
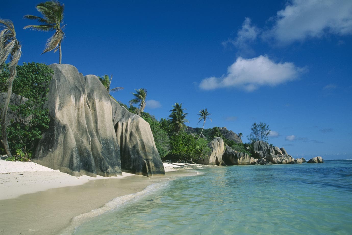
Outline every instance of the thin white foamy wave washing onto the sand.
<svg viewBox="0 0 352 235"><path fill-rule="evenodd" d="M73 234L74 230L83 224L84 222L88 221L89 219L99 216L107 211L111 211L113 209L116 209L122 205L127 204L128 202L131 202L133 199L137 200L142 198L143 196L156 191L166 185L168 185L169 182L162 182L162 183L156 183L156 184L151 184L147 186L144 190L132 193L132 194L127 194L125 196L117 197L112 199L110 202L107 202L105 205L98 209L93 209L89 212L83 213L81 215L77 215L71 219L71 222L69 226L62 231L60 231L58 234L60 235L71 235Z"/></svg>

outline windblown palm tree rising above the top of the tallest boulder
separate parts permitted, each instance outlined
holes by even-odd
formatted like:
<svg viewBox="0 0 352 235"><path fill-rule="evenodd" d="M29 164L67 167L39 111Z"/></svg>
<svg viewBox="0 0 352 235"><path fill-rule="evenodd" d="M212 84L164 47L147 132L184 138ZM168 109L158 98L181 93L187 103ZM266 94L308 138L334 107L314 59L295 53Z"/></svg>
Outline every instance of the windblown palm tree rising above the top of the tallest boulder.
<svg viewBox="0 0 352 235"><path fill-rule="evenodd" d="M37 20L41 25L27 25L23 29L33 29L38 31L55 31L54 35L48 39L45 44L45 48L42 54L48 51L59 50L59 64L61 64L61 43L65 36L63 28L66 25L63 24L64 9L65 5L60 2L52 0L47 2L41 2L36 6L37 10L42 14L43 17L25 15L25 19Z"/></svg>

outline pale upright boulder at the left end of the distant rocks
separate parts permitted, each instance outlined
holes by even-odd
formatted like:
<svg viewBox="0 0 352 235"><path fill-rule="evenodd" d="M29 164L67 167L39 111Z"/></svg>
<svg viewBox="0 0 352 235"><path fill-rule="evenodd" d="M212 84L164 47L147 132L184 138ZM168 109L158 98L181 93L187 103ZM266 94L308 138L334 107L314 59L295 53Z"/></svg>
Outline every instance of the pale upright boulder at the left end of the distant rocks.
<svg viewBox="0 0 352 235"><path fill-rule="evenodd" d="M210 166L219 166L222 161L222 154L224 153L224 141L220 137L215 137L214 140L208 143L208 146L212 152L208 157L198 160L197 163Z"/></svg>

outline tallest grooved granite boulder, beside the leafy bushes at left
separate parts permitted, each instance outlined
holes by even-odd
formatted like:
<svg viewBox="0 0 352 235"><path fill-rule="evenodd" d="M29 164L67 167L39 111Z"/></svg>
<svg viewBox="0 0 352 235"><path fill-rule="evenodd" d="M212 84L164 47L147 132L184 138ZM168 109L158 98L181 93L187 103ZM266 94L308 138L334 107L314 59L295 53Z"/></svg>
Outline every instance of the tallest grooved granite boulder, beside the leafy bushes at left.
<svg viewBox="0 0 352 235"><path fill-rule="evenodd" d="M111 101L95 75L69 64L51 64L49 129L34 148L33 162L74 176L121 175L120 148Z"/></svg>

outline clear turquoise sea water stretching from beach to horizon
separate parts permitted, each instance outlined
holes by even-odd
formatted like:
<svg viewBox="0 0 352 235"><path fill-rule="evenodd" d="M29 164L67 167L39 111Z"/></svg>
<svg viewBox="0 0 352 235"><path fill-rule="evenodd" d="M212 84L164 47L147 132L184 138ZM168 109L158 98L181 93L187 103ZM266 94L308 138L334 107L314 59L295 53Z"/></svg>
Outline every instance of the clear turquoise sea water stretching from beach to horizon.
<svg viewBox="0 0 352 235"><path fill-rule="evenodd" d="M159 185L73 234L352 234L351 160L199 172Z"/></svg>

